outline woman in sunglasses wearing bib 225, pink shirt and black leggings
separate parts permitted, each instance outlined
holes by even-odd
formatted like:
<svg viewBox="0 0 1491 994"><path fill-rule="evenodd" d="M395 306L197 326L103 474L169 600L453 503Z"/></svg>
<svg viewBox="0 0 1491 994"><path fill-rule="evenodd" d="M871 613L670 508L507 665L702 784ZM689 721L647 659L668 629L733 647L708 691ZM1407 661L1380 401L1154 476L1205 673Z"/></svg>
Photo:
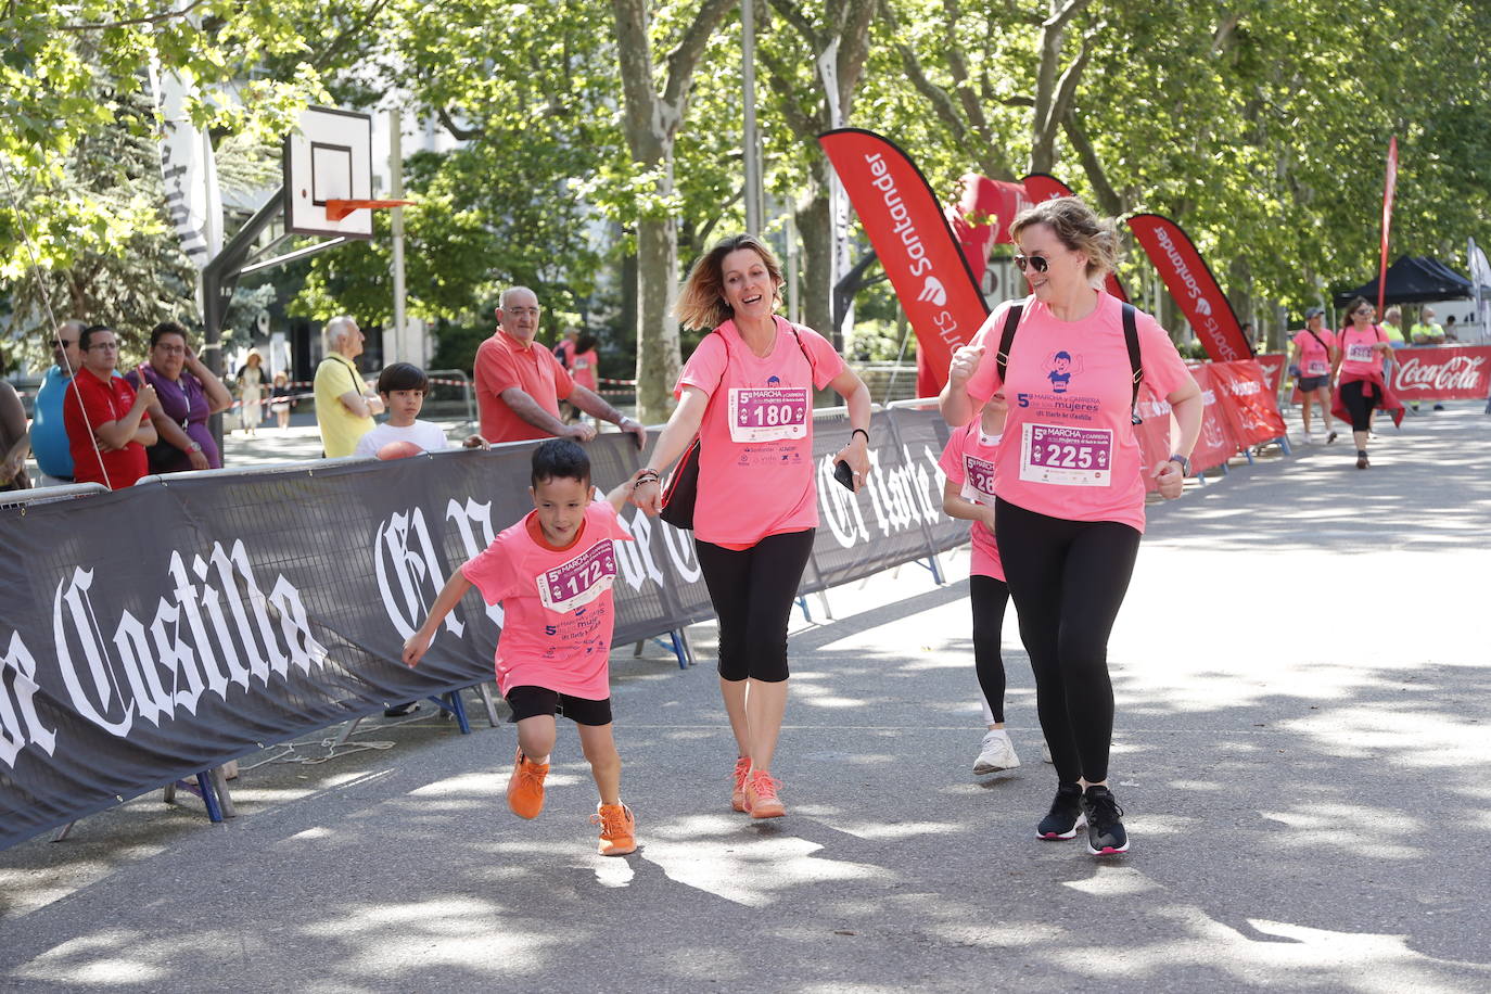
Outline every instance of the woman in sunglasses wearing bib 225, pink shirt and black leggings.
<svg viewBox="0 0 1491 994"><path fill-rule="evenodd" d="M1063 197L1021 212L1009 234L1030 297L996 308L957 350L941 407L950 425L965 425L996 392L1009 405L994 458L994 536L1059 779L1036 835L1071 839L1085 823L1088 852L1111 855L1129 849L1129 836L1108 790L1108 635L1144 532L1144 475L1179 496L1202 396L1164 329L1135 311L1144 383L1179 423L1173 455L1141 465L1124 306L1097 289L1117 256L1111 222ZM1011 307L1021 313L1000 382Z"/></svg>

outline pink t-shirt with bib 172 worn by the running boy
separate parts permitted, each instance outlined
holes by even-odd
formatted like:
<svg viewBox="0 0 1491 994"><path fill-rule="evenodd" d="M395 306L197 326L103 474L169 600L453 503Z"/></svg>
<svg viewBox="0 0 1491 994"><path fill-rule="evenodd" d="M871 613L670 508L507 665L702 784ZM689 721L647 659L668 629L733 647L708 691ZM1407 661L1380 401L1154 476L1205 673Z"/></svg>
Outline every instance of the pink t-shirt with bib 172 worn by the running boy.
<svg viewBox="0 0 1491 994"><path fill-rule="evenodd" d="M611 696L613 539L631 541L604 498L584 510L580 536L555 550L534 541L526 514L502 529L461 574L488 604L502 604L497 686L544 687L586 700Z"/></svg>

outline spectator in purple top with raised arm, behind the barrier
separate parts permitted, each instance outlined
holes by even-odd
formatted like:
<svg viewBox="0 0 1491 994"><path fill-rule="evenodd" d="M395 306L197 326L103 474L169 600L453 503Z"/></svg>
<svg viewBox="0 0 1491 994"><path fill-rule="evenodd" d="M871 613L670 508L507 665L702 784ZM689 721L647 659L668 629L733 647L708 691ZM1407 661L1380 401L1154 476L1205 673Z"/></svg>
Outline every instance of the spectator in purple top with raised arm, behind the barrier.
<svg viewBox="0 0 1491 994"><path fill-rule="evenodd" d="M221 469L222 453L207 419L233 407L233 395L186 343L186 329L174 320L151 331L151 359L125 379L140 387L140 374L155 387L160 407L151 422L160 437L146 450L151 472Z"/></svg>

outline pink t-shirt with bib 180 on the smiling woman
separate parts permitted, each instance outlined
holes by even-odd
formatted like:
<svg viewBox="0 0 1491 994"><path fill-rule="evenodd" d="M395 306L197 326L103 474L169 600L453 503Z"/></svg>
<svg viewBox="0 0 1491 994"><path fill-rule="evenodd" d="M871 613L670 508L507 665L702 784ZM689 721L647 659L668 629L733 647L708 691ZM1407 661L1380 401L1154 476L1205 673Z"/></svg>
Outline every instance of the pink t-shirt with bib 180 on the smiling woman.
<svg viewBox="0 0 1491 994"><path fill-rule="evenodd" d="M705 542L748 548L819 525L813 387L828 386L844 361L811 328L799 325L793 335L790 323L775 320L777 341L765 358L726 320L704 337L674 387L674 396L686 386L710 395L693 507L693 534Z"/></svg>

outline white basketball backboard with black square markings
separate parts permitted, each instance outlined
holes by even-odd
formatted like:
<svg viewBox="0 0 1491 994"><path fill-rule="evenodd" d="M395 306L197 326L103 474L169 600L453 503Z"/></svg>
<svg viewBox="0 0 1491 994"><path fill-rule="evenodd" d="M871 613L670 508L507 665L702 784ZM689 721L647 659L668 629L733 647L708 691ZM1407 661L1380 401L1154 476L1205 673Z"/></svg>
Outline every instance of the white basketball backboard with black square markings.
<svg viewBox="0 0 1491 994"><path fill-rule="evenodd" d="M350 110L306 107L300 130L285 139L285 231L371 238L373 212L332 219L328 200L373 197L373 118Z"/></svg>

